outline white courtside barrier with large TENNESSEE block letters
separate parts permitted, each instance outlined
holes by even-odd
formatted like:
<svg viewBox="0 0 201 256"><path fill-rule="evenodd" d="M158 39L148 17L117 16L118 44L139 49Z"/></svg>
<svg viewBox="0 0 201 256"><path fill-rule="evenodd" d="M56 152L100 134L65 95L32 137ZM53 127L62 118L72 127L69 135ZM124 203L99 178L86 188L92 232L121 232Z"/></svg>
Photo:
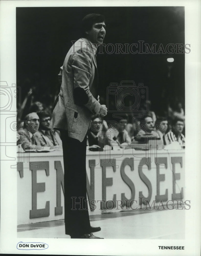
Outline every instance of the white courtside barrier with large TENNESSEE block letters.
<svg viewBox="0 0 201 256"><path fill-rule="evenodd" d="M163 208L175 200L180 204L184 201L184 157L184 150L87 152L89 214ZM18 225L64 219L63 172L60 151L18 154ZM72 205L80 200L72 198Z"/></svg>

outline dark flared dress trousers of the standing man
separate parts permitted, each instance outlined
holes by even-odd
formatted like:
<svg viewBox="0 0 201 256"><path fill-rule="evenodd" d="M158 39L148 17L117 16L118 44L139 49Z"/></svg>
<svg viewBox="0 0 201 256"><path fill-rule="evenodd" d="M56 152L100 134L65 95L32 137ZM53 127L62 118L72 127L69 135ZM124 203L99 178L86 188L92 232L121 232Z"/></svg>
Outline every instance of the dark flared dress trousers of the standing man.
<svg viewBox="0 0 201 256"><path fill-rule="evenodd" d="M90 233L86 197L86 141L80 142L61 131L64 162L65 233L80 236Z"/></svg>

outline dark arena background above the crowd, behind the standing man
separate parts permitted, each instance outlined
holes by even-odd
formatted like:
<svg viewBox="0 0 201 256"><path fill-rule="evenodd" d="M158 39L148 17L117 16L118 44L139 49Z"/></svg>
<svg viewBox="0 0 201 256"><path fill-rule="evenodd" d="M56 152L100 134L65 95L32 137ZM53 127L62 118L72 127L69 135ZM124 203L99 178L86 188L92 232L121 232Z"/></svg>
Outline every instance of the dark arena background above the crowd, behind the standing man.
<svg viewBox="0 0 201 256"><path fill-rule="evenodd" d="M150 46L184 44L184 7L17 7L17 86L22 100L34 86L35 99L53 102L59 93L58 73L64 58L79 39L82 18L89 13L105 16L104 43L138 43ZM169 63L167 58L173 57ZM102 104L111 82L133 80L149 88L156 113L167 104L185 100L184 54L99 54L97 66ZM170 72L169 72L170 71ZM169 75L168 75L169 73ZM52 104L52 103L51 103Z"/></svg>

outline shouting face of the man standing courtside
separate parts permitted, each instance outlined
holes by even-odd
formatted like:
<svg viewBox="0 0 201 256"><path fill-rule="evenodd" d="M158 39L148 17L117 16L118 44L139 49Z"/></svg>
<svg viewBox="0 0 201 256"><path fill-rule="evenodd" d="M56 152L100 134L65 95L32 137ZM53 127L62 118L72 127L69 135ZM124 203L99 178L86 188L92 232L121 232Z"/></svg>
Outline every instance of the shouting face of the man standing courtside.
<svg viewBox="0 0 201 256"><path fill-rule="evenodd" d="M105 22L94 23L92 28L86 31L87 38L93 44L103 44L105 33Z"/></svg>

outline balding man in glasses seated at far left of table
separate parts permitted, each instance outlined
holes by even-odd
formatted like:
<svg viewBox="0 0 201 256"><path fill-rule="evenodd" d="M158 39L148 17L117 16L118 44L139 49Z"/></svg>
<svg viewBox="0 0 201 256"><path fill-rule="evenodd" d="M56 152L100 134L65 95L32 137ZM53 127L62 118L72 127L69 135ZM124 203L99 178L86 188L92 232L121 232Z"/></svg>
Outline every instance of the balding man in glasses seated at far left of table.
<svg viewBox="0 0 201 256"><path fill-rule="evenodd" d="M29 113L24 118L23 130L20 130L20 137L17 140L17 145L21 144L24 151L49 151L50 149L60 149L59 146L46 146L38 133L39 116L37 113Z"/></svg>

